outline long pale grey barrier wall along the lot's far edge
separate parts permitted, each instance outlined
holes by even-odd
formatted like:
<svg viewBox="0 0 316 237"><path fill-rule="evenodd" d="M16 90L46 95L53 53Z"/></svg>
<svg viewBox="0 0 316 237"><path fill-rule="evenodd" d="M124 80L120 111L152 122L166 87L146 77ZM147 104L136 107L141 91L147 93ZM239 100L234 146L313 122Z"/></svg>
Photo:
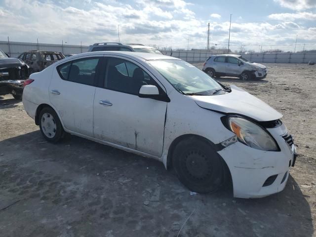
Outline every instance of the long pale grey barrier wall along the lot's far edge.
<svg viewBox="0 0 316 237"><path fill-rule="evenodd" d="M29 50L57 51L64 54L78 54L88 51L86 45L48 44L0 41L0 49L11 57L18 57L21 53ZM171 51L162 51L165 55L171 55ZM211 52L172 51L172 56L190 63L204 62L209 56L215 55ZM308 63L316 62L316 53L247 53L241 54L256 63Z"/></svg>

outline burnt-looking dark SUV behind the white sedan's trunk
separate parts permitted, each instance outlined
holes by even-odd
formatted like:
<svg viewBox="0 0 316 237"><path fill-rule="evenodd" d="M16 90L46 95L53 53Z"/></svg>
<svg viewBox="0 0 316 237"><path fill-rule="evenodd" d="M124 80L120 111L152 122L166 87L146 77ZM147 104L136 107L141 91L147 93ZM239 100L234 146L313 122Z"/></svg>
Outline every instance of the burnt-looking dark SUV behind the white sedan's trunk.
<svg viewBox="0 0 316 237"><path fill-rule="evenodd" d="M30 50L22 53L19 57L30 66L30 74L37 73L47 68L49 65L64 59L61 52Z"/></svg>

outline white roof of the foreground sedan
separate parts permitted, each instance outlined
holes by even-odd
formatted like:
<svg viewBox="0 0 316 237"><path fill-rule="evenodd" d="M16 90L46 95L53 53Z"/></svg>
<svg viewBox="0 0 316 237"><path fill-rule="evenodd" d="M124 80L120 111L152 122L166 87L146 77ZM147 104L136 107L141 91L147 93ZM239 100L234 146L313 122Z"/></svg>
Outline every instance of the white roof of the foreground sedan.
<svg viewBox="0 0 316 237"><path fill-rule="evenodd" d="M88 55L100 55L103 53L104 55L117 55L117 56L132 56L141 60L159 60L159 59L175 59L181 60L179 58L174 58L170 56L166 56L163 54L157 53L140 53L140 52L128 52L128 51L94 51L94 52L87 52L87 53L80 53L76 54L75 56L88 56Z"/></svg>

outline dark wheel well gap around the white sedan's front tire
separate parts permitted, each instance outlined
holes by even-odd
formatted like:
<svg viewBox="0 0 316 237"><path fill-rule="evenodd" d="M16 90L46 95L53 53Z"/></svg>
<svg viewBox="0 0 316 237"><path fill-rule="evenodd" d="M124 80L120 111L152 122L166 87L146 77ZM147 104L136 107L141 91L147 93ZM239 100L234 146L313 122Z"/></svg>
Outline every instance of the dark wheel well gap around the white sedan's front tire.
<svg viewBox="0 0 316 237"><path fill-rule="evenodd" d="M211 142L210 140L208 140L205 137L196 135L196 134L185 134L185 135L181 135L179 137L177 137L176 139L173 140L173 142L171 143L169 149L168 149L168 155L167 155L167 169L172 169L172 155L173 155L173 151L174 148L176 147L176 145L184 140L184 139L199 139L201 141L205 141L206 143L208 143L214 150L216 150L216 145ZM220 156L218 154L218 156ZM221 156L220 156L221 157ZM221 157L222 158L222 157ZM231 171L227 165L227 163L225 162L225 160L222 158L223 160L223 164L224 164L224 170L225 170L225 183L233 183L232 182L232 175L231 175Z"/></svg>

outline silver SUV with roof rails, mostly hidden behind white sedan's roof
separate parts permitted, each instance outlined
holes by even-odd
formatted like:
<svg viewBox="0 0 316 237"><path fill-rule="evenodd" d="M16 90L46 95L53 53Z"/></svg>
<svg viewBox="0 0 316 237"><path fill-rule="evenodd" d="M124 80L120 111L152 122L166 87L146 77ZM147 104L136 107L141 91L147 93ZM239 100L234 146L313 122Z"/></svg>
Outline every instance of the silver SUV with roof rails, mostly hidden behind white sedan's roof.
<svg viewBox="0 0 316 237"><path fill-rule="evenodd" d="M142 52L142 53L158 53L162 54L157 48L145 46L140 43L95 43L90 45L88 52L94 51L131 51L131 52Z"/></svg>

